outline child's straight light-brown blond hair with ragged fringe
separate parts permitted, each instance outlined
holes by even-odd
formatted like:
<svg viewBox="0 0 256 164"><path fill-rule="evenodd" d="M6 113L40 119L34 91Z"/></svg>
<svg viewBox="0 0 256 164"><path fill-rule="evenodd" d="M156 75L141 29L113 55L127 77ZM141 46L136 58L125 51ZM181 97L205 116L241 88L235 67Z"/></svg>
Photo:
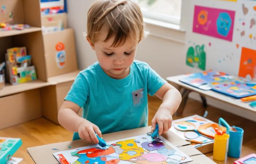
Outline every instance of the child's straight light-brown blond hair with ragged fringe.
<svg viewBox="0 0 256 164"><path fill-rule="evenodd" d="M98 0L87 13L87 37L98 41L102 27L108 30L104 42L115 36L111 46L118 46L127 38L144 38L144 23L138 4L131 0ZM132 39L132 38L131 38Z"/></svg>

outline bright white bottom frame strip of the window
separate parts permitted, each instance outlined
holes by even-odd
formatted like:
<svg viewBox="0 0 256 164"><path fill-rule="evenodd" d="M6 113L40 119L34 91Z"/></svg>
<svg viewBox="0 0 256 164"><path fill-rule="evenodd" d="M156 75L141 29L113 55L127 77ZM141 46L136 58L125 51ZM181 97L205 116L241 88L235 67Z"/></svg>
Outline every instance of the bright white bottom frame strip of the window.
<svg viewBox="0 0 256 164"><path fill-rule="evenodd" d="M134 1L136 1L138 3L138 0L134 0ZM142 11L143 17L161 21L161 22L180 25L180 19L181 19L180 17L148 11L147 9L145 9L143 7L141 7L140 9Z"/></svg>

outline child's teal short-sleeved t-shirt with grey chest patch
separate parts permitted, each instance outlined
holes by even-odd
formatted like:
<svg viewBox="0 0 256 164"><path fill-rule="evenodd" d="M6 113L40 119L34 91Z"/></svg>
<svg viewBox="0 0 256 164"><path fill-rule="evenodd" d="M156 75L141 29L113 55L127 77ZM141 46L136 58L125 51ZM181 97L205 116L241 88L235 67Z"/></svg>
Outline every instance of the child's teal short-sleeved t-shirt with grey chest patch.
<svg viewBox="0 0 256 164"><path fill-rule="evenodd" d="M147 126L147 94L154 95L165 83L145 62L135 60L123 79L109 77L96 62L78 74L65 100L83 108L82 117L102 134L117 132Z"/></svg>

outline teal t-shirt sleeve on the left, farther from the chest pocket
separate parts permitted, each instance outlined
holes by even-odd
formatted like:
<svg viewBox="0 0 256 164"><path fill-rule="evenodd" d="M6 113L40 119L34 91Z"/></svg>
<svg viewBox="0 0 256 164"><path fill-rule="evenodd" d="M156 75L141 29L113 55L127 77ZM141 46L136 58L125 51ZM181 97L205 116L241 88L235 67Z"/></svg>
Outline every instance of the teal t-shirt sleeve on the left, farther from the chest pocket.
<svg viewBox="0 0 256 164"><path fill-rule="evenodd" d="M86 77L79 73L71 86L71 89L68 91L65 100L74 102L79 105L80 108L84 106L89 97L89 85L86 80Z"/></svg>

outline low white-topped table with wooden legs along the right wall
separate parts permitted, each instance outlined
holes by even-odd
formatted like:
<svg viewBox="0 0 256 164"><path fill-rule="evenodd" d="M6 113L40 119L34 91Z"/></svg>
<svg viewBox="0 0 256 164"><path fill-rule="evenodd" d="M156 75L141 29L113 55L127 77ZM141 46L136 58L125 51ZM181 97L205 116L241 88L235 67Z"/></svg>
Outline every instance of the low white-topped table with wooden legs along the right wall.
<svg viewBox="0 0 256 164"><path fill-rule="evenodd" d="M185 108L187 99L188 99L188 95L191 92L196 92L196 93L200 94L200 97L202 99L204 107L207 106L207 102L206 102L205 97L210 97L210 98L216 99L218 101L225 102L229 105L239 107L243 110L249 110L251 112L256 113L256 110L254 108L249 106L248 103L241 102L240 99L236 99L236 98L233 98L233 97L230 97L230 96L227 96L225 94L221 94L221 93L218 93L218 92L215 92L215 91L212 91L212 90L198 89L196 87L193 87L193 86L190 86L190 85L187 85L185 83L180 82L179 79L182 79L185 76L186 75L177 75L177 76L172 76L172 77L167 77L166 78L166 80L170 84L172 84L174 86L177 86L177 89L180 91L181 96L182 96L182 101L181 101L180 107L178 108L178 110L176 112L177 116L180 116L182 114L182 112Z"/></svg>

